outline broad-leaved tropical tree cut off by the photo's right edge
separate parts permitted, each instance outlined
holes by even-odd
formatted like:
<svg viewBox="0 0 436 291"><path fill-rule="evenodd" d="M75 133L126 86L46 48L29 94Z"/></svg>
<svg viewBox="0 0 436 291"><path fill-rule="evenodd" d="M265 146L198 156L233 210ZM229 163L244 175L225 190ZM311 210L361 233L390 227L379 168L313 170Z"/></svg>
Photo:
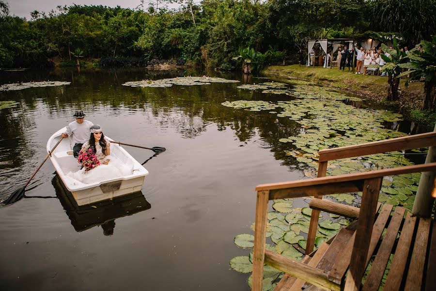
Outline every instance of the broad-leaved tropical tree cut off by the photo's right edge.
<svg viewBox="0 0 436 291"><path fill-rule="evenodd" d="M432 41L421 40L420 45L409 50L405 57L409 62L402 67L410 69L401 73L397 78L408 75L406 81L424 80L424 100L422 110L433 110L436 106L436 35L432 35Z"/></svg>

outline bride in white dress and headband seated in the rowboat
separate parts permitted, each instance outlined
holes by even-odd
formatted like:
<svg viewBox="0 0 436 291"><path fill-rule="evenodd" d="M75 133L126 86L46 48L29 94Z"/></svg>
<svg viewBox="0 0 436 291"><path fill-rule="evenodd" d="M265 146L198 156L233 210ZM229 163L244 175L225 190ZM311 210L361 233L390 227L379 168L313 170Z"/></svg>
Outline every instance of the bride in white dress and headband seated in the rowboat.
<svg viewBox="0 0 436 291"><path fill-rule="evenodd" d="M90 131L91 136L89 141L83 144L81 151L84 152L91 148L100 161L100 165L88 171L82 168L77 172L69 172L67 176L84 184L91 184L132 174L131 170L123 163L119 162L115 157L110 156L110 142L105 138L101 127L99 125L93 125Z"/></svg>

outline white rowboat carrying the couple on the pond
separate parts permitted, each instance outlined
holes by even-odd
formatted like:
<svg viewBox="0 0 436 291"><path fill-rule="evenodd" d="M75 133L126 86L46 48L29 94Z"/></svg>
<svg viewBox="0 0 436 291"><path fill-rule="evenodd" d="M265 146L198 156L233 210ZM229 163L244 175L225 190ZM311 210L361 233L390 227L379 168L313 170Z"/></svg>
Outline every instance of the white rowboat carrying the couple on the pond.
<svg viewBox="0 0 436 291"><path fill-rule="evenodd" d="M61 138L61 134L65 132L65 130L66 129L63 128L56 131L48 139L47 153L49 153L53 146L56 145ZM109 141L113 141L107 136L106 138ZM70 140L64 138L51 154L50 160L65 187L73 194L78 206L111 199L141 190L145 176L148 175L148 171L131 155L129 155L122 146L117 144L110 145L110 155L131 169L130 175L89 184L81 183L74 178L68 177L67 174L69 172L76 172L80 169L77 159L72 155L71 146Z"/></svg>

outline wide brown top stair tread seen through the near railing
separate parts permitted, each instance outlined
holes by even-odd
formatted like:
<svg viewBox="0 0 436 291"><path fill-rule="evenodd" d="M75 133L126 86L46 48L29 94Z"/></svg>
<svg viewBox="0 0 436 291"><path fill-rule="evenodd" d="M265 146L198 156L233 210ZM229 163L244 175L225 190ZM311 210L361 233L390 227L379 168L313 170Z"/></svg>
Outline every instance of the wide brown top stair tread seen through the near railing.
<svg viewBox="0 0 436 291"><path fill-rule="evenodd" d="M334 240L331 242L330 247L327 252L324 254L323 258L320 259L318 264L316 265L317 269L320 269L324 272L328 272L334 265L334 262L339 256L342 256L343 249L346 244L350 241L351 237L354 234L354 230L342 228L339 233L335 236ZM327 242L328 243L328 242ZM306 290L311 284L305 283L302 289Z"/></svg>

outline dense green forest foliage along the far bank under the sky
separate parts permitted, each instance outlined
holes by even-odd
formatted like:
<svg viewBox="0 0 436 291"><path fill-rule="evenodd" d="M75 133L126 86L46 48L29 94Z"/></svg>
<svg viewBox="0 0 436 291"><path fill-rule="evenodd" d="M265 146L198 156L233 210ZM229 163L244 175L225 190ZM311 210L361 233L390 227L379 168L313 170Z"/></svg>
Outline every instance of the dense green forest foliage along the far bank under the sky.
<svg viewBox="0 0 436 291"><path fill-rule="evenodd" d="M73 52L80 49L85 58L183 58L231 68L239 66L232 58L240 49L250 47L262 67L295 54L308 38L398 32L404 45L413 47L418 39L436 34L436 0L410 0L410 5L401 0L174 1L180 9L147 9L143 2L133 10L58 6L48 14L33 11L26 20L9 16L0 0L0 66L56 56L74 61Z"/></svg>

